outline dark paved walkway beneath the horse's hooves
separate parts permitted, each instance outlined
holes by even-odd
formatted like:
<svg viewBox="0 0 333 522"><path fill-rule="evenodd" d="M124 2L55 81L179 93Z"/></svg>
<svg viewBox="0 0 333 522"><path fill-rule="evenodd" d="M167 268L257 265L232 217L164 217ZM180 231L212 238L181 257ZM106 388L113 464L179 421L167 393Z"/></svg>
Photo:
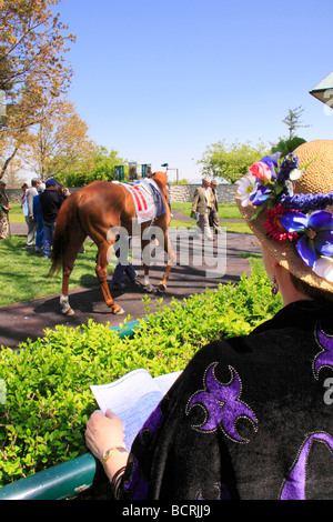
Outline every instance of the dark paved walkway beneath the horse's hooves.
<svg viewBox="0 0 333 522"><path fill-rule="evenodd" d="M176 211L173 211L173 214L174 219L181 219ZM26 224L19 225L12 223L11 233L26 234ZM178 241L178 245L181 241ZM202 262L200 263L198 261L198 243L195 243L195 240L190 239L190 244L192 245L191 259L186 263L182 263L181 259L176 261L169 278L167 293L149 294L151 298L150 313L157 310L155 297L160 298L162 295L163 304L168 304L173 297L185 299L193 293L204 292L206 288L215 289L221 282L236 282L244 272L250 273L250 264L246 259L240 255L240 252L260 251L255 237L252 234L228 233L226 241L224 237L224 244L223 240L219 239L205 249L204 254L201 257ZM218 254L220 258L216 258ZM210 267L212 259L215 259L215 261L225 259L224 265L216 261L218 270L212 269ZM145 317L145 304L142 302L145 292L140 284L142 269L139 264L135 268L139 272L138 284L130 283L124 278L127 283L124 291L112 290L112 297L123 308L124 314L113 315L109 312L98 284L92 288L79 288L71 291L70 303L75 311L75 314L71 317L61 314L59 294L1 307L0 347L17 348L20 342L27 341L28 338L34 341L38 337L43 335L46 328L54 329L57 324L75 328L80 324L85 324L89 319L93 319L98 323L105 324L110 322L111 325L117 325L123 322L124 318L129 314L131 320ZM158 285L162 273L163 267L161 265L151 269L150 280L152 284Z"/></svg>

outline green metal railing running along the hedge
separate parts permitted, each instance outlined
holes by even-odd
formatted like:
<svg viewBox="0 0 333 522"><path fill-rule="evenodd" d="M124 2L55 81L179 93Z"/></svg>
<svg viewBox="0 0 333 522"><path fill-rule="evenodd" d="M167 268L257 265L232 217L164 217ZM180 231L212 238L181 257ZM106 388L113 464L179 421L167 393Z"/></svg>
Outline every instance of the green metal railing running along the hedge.
<svg viewBox="0 0 333 522"><path fill-rule="evenodd" d="M123 328L112 327L121 339L132 337L139 321ZM0 500L61 500L77 496L91 489L99 463L91 453L78 456L27 479L0 488Z"/></svg>

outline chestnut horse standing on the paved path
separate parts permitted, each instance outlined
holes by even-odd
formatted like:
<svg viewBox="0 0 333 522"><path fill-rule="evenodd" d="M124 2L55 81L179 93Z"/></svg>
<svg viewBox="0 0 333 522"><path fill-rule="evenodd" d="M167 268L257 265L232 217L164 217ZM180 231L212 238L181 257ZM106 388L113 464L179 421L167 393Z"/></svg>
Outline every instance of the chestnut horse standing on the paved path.
<svg viewBox="0 0 333 522"><path fill-rule="evenodd" d="M79 250L87 237L91 238L98 247L95 273L104 301L112 313L124 312L121 307L114 303L107 282L108 260L112 254L119 229L124 230L131 237L141 234L142 251L152 239L147 233L150 227L162 233L162 235L159 234L159 238L162 237L164 243L162 247L167 252L168 262L159 289L161 291L167 290L168 278L174 259L168 234L168 227L171 221L167 189L168 177L164 172L155 172L152 179L161 191L165 213L152 221L143 222L141 225L134 224L137 215L133 198L122 183L94 181L69 195L62 203L56 222L52 265L49 275L52 275L62 267L60 304L63 314L71 315L74 313L69 303L69 279ZM144 287L148 291L153 291L153 287L149 282L149 265L144 263L144 260L143 267Z"/></svg>

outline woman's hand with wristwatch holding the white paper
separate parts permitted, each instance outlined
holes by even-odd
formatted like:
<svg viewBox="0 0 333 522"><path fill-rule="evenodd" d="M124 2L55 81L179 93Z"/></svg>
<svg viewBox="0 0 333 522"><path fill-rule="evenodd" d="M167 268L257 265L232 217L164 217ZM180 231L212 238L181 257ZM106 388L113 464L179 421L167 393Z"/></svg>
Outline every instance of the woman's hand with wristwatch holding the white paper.
<svg viewBox="0 0 333 522"><path fill-rule="evenodd" d="M112 446L123 446L122 422L111 410L105 415L97 410L90 416L85 430L85 444L91 453L103 463L103 455Z"/></svg>

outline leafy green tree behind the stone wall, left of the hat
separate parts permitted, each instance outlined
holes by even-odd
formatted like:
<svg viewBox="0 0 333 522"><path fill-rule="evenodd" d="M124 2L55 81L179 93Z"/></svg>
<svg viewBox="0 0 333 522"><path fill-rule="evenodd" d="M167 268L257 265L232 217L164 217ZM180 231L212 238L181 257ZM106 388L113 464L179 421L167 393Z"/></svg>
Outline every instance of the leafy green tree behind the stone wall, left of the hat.
<svg viewBox="0 0 333 522"><path fill-rule="evenodd" d="M252 163L265 155L265 150L264 143L261 142L256 147L250 141L235 141L228 145L225 140L222 140L209 145L198 163L202 164L203 172L234 183L248 172Z"/></svg>

